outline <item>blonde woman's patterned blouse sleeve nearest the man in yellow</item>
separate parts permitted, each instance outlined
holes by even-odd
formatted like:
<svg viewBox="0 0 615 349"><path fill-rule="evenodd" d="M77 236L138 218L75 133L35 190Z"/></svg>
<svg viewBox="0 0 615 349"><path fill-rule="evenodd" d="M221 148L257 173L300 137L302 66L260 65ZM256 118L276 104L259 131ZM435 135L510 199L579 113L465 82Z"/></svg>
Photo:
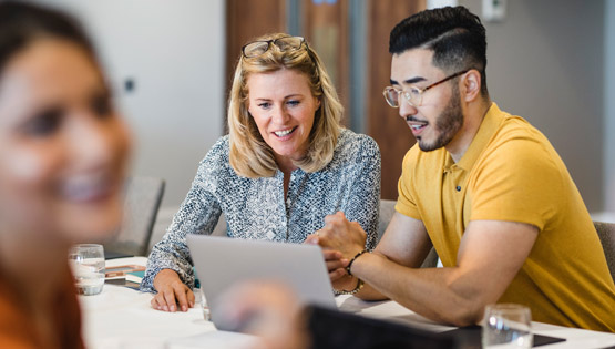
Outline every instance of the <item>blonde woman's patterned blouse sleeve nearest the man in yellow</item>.
<svg viewBox="0 0 615 349"><path fill-rule="evenodd" d="M372 249L378 239L380 212L380 150L371 137L361 136L356 157L355 179L349 199L342 205L348 220L356 220L367 233L366 248Z"/></svg>

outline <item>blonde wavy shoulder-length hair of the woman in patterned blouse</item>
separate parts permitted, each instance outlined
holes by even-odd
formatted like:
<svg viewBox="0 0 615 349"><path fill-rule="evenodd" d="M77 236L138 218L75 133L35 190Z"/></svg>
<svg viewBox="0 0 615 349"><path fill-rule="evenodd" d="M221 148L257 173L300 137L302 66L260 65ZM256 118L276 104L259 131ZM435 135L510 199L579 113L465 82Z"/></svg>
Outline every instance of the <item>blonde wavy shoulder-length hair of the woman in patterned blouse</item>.
<svg viewBox="0 0 615 349"><path fill-rule="evenodd" d="M290 37L274 33L253 41L267 41ZM297 50L281 51L275 44L255 58L239 57L230 95L228 97L229 162L238 175L256 178L271 177L278 166L274 151L263 140L254 119L248 113L247 80L250 74L270 73L291 69L308 78L311 94L320 100L320 107L314 115L314 126L309 134L306 156L294 164L305 172L322 170L334 157L334 150L340 133L344 106L318 54L307 41Z"/></svg>

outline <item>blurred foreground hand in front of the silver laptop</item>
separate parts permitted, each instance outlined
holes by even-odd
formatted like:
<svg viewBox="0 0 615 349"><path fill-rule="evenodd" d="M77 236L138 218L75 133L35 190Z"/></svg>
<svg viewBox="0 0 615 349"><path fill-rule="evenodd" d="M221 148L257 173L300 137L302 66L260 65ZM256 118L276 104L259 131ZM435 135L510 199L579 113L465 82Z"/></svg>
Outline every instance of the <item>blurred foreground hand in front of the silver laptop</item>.
<svg viewBox="0 0 615 349"><path fill-rule="evenodd" d="M306 349L308 336L301 307L284 284L248 281L234 286L218 298L218 321L259 338L253 349Z"/></svg>

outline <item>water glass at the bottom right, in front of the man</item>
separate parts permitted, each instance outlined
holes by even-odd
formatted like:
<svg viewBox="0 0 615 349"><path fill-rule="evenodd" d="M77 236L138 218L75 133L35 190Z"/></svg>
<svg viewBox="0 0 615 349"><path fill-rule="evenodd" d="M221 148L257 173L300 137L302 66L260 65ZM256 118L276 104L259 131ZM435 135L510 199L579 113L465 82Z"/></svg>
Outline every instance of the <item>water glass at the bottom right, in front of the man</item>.
<svg viewBox="0 0 615 349"><path fill-rule="evenodd" d="M482 326L483 348L532 348L530 308L514 304L489 305Z"/></svg>

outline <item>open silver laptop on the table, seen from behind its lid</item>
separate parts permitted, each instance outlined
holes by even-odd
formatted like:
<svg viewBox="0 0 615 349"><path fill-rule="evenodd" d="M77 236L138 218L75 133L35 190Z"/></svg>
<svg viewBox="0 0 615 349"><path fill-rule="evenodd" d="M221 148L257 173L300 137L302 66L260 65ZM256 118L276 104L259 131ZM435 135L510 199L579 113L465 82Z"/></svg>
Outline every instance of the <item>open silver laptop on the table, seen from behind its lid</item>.
<svg viewBox="0 0 615 349"><path fill-rule="evenodd" d="M233 284L268 279L287 284L304 304L337 309L320 247L187 235L191 256L216 322L216 299Z"/></svg>

